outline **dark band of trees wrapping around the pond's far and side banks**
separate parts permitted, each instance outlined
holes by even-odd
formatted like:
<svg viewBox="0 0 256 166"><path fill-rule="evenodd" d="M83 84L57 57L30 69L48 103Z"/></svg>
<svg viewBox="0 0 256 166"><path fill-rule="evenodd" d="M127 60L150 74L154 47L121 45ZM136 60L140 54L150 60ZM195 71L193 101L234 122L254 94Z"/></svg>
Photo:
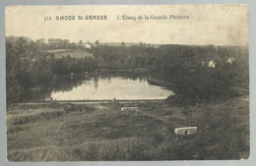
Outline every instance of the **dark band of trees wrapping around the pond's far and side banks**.
<svg viewBox="0 0 256 166"><path fill-rule="evenodd" d="M69 49L70 45L62 45ZM47 84L54 77L83 74L101 69L149 69L150 79L169 86L175 95L167 101L195 104L247 95L249 60L246 46L188 46L147 44L126 47L96 44L85 49L94 57L56 59L49 45L25 37L6 38L7 101L22 102L32 88ZM156 82L155 82L156 81ZM150 83L150 82L149 82Z"/></svg>

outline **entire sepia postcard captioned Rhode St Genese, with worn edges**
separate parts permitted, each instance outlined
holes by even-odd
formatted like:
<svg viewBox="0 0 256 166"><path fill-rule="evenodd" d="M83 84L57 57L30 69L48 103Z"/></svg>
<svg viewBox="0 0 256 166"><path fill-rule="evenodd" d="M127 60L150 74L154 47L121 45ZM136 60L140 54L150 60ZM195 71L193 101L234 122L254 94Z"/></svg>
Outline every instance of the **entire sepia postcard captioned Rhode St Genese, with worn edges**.
<svg viewBox="0 0 256 166"><path fill-rule="evenodd" d="M248 6L8 6L7 159L250 157Z"/></svg>

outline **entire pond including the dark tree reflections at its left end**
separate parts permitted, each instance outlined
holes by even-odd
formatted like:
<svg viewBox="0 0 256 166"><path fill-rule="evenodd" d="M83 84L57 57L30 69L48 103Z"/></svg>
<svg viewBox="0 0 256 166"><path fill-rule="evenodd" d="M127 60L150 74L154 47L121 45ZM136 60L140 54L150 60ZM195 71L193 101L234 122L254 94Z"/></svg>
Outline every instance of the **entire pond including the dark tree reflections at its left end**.
<svg viewBox="0 0 256 166"><path fill-rule="evenodd" d="M173 92L169 88L148 83L147 75L104 74L58 76L50 84L36 87L26 94L27 101L104 100L104 99L164 99ZM39 90L38 90L39 89Z"/></svg>

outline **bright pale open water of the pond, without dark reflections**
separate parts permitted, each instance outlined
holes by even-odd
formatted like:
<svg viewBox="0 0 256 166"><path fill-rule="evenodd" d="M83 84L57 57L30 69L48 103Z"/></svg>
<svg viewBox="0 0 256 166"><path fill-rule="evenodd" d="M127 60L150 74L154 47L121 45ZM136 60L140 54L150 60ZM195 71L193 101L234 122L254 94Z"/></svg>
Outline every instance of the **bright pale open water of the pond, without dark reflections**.
<svg viewBox="0 0 256 166"><path fill-rule="evenodd" d="M62 85L63 86L63 85ZM93 77L69 88L52 89L53 100L145 100L165 99L173 91L148 83L146 78Z"/></svg>

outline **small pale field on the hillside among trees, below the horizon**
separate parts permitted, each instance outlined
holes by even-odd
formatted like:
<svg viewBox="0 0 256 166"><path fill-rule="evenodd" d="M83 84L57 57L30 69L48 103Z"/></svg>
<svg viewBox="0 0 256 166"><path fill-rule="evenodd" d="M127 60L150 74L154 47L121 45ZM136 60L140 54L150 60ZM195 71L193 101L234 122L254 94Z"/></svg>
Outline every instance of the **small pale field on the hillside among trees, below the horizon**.
<svg viewBox="0 0 256 166"><path fill-rule="evenodd" d="M55 58L62 58L70 55L73 58L84 58L93 57L94 55L87 52L86 50L80 49L54 49L47 51L49 53L54 53Z"/></svg>

